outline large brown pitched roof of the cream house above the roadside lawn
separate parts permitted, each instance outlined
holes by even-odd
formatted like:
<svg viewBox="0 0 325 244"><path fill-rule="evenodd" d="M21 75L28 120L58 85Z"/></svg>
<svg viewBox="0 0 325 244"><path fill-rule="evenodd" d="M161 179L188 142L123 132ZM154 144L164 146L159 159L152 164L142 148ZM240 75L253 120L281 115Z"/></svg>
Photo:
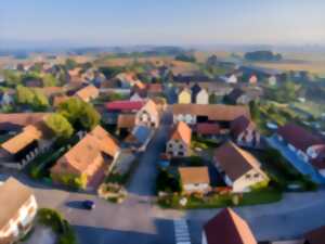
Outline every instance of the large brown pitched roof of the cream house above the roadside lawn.
<svg viewBox="0 0 325 244"><path fill-rule="evenodd" d="M232 181L236 181L252 168L265 176L260 169L258 159L247 151L239 149L233 142L226 142L218 147L214 152L214 159Z"/></svg>

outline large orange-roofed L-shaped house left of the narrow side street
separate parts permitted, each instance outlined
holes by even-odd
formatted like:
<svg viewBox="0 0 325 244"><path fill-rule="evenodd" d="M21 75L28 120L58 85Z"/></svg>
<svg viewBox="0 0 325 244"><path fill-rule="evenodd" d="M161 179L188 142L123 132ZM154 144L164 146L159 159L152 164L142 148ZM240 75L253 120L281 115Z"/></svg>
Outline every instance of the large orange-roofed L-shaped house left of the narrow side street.
<svg viewBox="0 0 325 244"><path fill-rule="evenodd" d="M66 183L82 179L81 188L95 188L104 172L113 168L120 153L115 139L101 126L96 126L75 146L65 153L51 168L53 180Z"/></svg>

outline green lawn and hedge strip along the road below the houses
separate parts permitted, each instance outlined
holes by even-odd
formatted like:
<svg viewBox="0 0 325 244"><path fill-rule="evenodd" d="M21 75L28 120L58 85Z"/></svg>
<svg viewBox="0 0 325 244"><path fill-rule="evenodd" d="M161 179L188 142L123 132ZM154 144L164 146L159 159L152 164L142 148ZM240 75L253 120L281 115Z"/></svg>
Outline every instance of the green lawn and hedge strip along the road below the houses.
<svg viewBox="0 0 325 244"><path fill-rule="evenodd" d="M186 206L181 206L180 200L183 196L173 194L158 200L158 204L164 208L223 208L246 205L270 204L282 200L282 192L272 189L261 189L244 194L213 194L210 196L190 196ZM237 202L237 203L236 203Z"/></svg>

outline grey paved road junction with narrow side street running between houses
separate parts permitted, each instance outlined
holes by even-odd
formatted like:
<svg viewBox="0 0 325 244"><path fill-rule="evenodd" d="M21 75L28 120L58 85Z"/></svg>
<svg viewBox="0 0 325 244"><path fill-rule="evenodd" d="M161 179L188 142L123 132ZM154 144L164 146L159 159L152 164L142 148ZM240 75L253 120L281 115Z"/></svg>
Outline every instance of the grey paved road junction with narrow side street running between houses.
<svg viewBox="0 0 325 244"><path fill-rule="evenodd" d="M168 119L166 119L167 121ZM200 243L202 226L219 209L166 210L152 204L154 200L155 163L164 147L168 126L157 131L140 160L128 190L128 200L112 204L92 194L48 189L23 175L14 175L34 188L40 207L62 211L76 228L80 244L172 244L173 220L188 220L193 244ZM1 174L0 180L12 174ZM80 208L80 201L91 198L96 208ZM289 193L278 203L248 206L235 210L250 224L258 240L280 240L300 236L306 231L325 224L325 191Z"/></svg>

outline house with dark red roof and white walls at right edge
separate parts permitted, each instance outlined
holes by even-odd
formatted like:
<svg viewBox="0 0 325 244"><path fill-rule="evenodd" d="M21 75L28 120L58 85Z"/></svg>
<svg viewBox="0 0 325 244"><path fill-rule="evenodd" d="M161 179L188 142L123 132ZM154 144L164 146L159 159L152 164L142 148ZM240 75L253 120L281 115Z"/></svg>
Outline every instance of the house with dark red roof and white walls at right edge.
<svg viewBox="0 0 325 244"><path fill-rule="evenodd" d="M325 176L325 140L294 123L280 127L276 137L302 160L312 164Z"/></svg>

